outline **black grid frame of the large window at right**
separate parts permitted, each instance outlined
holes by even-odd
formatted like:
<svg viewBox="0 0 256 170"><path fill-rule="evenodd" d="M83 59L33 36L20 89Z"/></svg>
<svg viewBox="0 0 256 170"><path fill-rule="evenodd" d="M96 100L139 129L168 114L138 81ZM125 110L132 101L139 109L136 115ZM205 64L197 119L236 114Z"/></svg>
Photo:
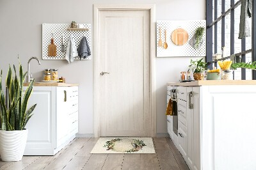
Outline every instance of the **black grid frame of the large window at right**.
<svg viewBox="0 0 256 170"><path fill-rule="evenodd" d="M212 12L214 1L214 13ZM217 65L218 60L212 61L212 54L217 53L217 23L221 21L221 47L225 46L225 17L230 13L230 54L234 54L234 10L238 7L241 8L241 1L234 3L234 0L230 0L230 8L225 10L225 0L221 0L221 15L217 17L217 2L218 0L206 0L206 62L207 68L212 69L212 63ZM245 49L245 38L241 39L241 52L236 53L236 56L241 56L241 61L245 62L246 54L252 52L252 62L256 61L256 0L253 0L253 12L252 12L252 49ZM214 16L214 20L213 20ZM214 52L212 51L213 39L212 39L212 27L214 27ZM255 49L255 50L253 50ZM228 56L226 59L230 58ZM219 60L223 60L219 59ZM246 69L241 69L241 79L246 79ZM256 80L256 70L252 70L252 79Z"/></svg>

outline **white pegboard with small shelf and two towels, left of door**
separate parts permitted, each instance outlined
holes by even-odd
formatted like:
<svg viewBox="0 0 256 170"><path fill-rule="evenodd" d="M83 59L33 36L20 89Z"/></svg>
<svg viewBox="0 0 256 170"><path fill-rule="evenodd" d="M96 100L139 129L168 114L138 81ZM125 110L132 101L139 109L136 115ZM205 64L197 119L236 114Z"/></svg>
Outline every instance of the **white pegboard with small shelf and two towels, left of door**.
<svg viewBox="0 0 256 170"><path fill-rule="evenodd" d="M78 47L83 36L86 36L88 45L92 48L91 38L91 24L82 24L84 28L88 28L88 31L67 31L70 24L42 24L42 59L65 59L67 42L70 35L73 36L76 47ZM51 34L53 33L54 44L57 45L57 56L48 56L48 45L51 43ZM63 43L65 45L65 52L61 52L61 37L63 35ZM92 50L92 49L91 49ZM92 56L88 56L87 59L91 59ZM76 59L80 59L79 56ZM83 59L83 58L82 58Z"/></svg>

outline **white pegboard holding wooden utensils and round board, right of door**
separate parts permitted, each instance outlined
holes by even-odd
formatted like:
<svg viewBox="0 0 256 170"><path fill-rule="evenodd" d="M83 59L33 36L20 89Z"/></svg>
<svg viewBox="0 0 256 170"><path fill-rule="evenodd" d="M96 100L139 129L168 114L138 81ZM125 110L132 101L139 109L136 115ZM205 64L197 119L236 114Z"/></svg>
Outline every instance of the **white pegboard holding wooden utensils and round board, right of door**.
<svg viewBox="0 0 256 170"><path fill-rule="evenodd" d="M166 29L166 43L168 44L168 48L164 49L164 47L158 47L159 41L159 27L161 26L161 40L164 44L164 29ZM156 32L157 32L157 57L182 57L182 56L206 56L206 47L205 47L205 31L202 43L202 46L199 49L194 49L190 44L189 40L191 40L192 36L195 35L196 28L198 27L206 27L205 20L157 20ZM171 35L172 31L177 28L183 28L188 32L189 38L188 42L184 45L175 45L172 42Z"/></svg>

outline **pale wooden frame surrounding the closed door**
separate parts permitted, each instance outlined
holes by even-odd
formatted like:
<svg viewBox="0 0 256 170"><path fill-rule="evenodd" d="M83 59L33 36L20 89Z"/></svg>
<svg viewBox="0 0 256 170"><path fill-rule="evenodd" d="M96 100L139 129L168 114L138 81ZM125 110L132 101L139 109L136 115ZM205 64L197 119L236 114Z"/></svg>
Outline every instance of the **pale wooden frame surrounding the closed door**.
<svg viewBox="0 0 256 170"><path fill-rule="evenodd" d="M100 135L99 93L99 12L100 10L148 10L150 12L150 129L156 136L156 5L155 4L93 4L93 128Z"/></svg>

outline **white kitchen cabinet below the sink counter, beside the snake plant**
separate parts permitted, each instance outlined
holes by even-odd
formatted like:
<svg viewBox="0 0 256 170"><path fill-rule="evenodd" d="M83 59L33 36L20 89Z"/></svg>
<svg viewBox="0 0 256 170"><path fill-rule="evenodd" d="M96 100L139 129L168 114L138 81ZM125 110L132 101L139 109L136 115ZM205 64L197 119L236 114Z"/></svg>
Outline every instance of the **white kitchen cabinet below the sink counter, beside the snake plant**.
<svg viewBox="0 0 256 170"><path fill-rule="evenodd" d="M78 132L78 87L34 86L28 107L33 104L24 155L55 155Z"/></svg>

